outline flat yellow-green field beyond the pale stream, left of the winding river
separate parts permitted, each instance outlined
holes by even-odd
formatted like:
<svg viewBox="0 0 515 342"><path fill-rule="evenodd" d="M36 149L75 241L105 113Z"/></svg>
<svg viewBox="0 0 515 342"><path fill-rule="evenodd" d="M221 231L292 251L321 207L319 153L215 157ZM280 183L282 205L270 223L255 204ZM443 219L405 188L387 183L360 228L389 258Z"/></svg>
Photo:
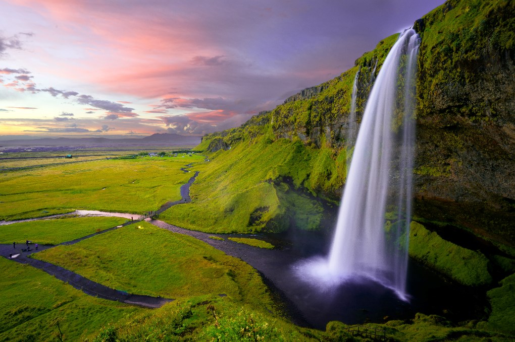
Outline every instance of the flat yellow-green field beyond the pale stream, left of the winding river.
<svg viewBox="0 0 515 342"><path fill-rule="evenodd" d="M138 158L64 164L0 174L0 220L42 216L75 209L129 212L157 210L180 199L192 176L180 170L186 158Z"/></svg>

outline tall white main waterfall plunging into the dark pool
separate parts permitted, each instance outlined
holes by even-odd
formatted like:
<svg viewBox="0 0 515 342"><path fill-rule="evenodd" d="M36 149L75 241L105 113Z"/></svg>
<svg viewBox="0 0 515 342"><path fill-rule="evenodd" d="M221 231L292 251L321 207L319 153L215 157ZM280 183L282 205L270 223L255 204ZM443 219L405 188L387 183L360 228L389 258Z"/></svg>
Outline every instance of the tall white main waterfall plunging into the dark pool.
<svg viewBox="0 0 515 342"><path fill-rule="evenodd" d="M302 267L320 283L372 278L407 300L418 45L418 34L413 29L404 31L372 87L329 257ZM385 224L390 204L399 210L397 222L391 226Z"/></svg>

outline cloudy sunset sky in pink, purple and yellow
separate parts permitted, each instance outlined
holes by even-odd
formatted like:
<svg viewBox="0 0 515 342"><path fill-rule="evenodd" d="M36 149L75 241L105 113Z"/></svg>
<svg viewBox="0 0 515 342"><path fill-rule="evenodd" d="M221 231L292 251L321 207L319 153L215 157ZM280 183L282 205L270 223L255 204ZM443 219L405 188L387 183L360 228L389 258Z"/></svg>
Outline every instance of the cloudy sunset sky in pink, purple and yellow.
<svg viewBox="0 0 515 342"><path fill-rule="evenodd" d="M0 0L0 140L236 127L443 2Z"/></svg>

